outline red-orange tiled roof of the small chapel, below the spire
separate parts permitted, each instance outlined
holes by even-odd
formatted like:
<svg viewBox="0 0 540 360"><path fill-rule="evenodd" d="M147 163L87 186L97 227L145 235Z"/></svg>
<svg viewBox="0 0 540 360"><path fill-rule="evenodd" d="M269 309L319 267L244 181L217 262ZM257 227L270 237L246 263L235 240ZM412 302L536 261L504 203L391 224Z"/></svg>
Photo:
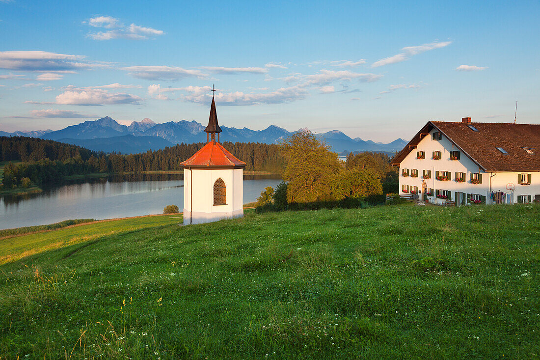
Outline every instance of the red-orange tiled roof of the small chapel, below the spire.
<svg viewBox="0 0 540 360"><path fill-rule="evenodd" d="M180 165L186 169L240 169L246 163L235 158L220 143L211 141Z"/></svg>

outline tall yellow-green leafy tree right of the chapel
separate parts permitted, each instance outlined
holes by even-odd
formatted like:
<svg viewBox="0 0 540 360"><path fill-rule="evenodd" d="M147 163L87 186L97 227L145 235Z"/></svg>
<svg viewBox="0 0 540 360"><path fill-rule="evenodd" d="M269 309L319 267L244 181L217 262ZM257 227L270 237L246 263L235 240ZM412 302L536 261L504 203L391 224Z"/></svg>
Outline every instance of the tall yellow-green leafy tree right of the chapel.
<svg viewBox="0 0 540 360"><path fill-rule="evenodd" d="M310 131L298 131L281 143L287 159L283 174L289 203L309 203L331 198L332 183L341 165L338 154Z"/></svg>

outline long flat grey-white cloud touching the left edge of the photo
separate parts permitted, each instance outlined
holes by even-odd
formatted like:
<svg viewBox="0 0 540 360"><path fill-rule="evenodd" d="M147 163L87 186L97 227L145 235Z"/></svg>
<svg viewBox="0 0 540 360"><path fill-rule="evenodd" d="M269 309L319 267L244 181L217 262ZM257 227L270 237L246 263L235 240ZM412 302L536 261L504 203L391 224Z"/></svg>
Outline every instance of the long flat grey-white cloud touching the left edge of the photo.
<svg viewBox="0 0 540 360"><path fill-rule="evenodd" d="M103 66L84 62L84 58L83 55L47 51L0 51L0 69L69 74L75 70Z"/></svg>

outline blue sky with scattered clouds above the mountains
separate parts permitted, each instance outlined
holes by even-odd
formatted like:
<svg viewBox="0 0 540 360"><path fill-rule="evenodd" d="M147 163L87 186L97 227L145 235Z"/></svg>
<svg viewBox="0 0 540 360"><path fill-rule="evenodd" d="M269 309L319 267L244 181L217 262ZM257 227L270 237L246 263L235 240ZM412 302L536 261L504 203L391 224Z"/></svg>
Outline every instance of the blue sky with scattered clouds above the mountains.
<svg viewBox="0 0 540 360"><path fill-rule="evenodd" d="M0 0L0 130L109 115L410 139L540 123L540 3Z"/></svg>

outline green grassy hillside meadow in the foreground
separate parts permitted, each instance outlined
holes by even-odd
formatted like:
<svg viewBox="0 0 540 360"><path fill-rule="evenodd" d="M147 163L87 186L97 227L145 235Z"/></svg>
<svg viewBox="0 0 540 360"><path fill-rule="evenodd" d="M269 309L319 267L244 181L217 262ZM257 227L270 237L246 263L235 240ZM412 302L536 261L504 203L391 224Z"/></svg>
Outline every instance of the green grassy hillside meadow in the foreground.
<svg viewBox="0 0 540 360"><path fill-rule="evenodd" d="M0 356L540 356L538 205L162 219L3 243Z"/></svg>

